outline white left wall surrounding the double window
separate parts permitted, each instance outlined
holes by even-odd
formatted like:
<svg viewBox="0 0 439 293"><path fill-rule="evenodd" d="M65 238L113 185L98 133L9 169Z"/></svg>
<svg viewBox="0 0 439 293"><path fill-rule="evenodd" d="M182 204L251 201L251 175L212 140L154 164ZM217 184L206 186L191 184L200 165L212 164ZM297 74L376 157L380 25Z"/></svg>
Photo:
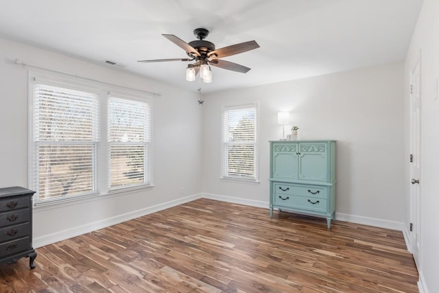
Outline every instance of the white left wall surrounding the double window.
<svg viewBox="0 0 439 293"><path fill-rule="evenodd" d="M198 94L0 38L0 187L27 187L27 71L13 60L161 93L154 97L154 187L34 209L34 247L196 198L201 190ZM181 194L183 187L183 194ZM186 197L186 198L185 198Z"/></svg>

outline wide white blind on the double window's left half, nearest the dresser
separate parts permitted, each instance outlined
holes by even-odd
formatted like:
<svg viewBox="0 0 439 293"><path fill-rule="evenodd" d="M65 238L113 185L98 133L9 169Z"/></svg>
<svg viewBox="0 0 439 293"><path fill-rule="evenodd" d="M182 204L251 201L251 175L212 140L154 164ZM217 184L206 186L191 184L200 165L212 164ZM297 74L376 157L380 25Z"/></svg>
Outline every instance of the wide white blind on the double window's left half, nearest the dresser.
<svg viewBox="0 0 439 293"><path fill-rule="evenodd" d="M38 82L33 95L37 202L95 191L97 95Z"/></svg>

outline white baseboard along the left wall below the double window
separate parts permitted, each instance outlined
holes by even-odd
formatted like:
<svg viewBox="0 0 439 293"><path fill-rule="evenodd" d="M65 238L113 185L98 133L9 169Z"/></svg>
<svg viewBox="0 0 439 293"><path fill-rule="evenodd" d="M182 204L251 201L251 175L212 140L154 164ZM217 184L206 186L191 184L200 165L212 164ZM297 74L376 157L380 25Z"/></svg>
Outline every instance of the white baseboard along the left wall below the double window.
<svg viewBox="0 0 439 293"><path fill-rule="evenodd" d="M104 220L99 220L97 222L88 223L86 225L77 226L74 228L66 229L49 235L43 235L41 237L36 237L33 239L34 248L45 246L48 244L53 244L71 237L79 236L85 233L90 233L108 226L119 224L121 222L126 222L135 218L139 218L143 215L149 215L150 213L156 213L157 211L162 211L164 209L169 209L170 207L175 207L179 204L184 204L186 202L191 202L193 200L198 200L201 198L201 194L194 194L192 196L186 196L185 198L178 198L176 200L171 200L169 202L163 202L162 204L156 204L152 207L147 207L145 209L138 209L137 211L131 211L130 213L123 213L121 215L116 215L112 218L107 218Z"/></svg>

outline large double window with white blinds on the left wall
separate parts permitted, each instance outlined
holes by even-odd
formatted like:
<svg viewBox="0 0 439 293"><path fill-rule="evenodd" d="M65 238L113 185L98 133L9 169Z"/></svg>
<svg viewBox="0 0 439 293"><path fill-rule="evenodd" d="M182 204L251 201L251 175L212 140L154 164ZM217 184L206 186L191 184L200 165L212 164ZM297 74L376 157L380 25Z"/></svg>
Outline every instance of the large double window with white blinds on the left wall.
<svg viewBox="0 0 439 293"><path fill-rule="evenodd" d="M150 99L77 78L30 80L36 204L150 185Z"/></svg>

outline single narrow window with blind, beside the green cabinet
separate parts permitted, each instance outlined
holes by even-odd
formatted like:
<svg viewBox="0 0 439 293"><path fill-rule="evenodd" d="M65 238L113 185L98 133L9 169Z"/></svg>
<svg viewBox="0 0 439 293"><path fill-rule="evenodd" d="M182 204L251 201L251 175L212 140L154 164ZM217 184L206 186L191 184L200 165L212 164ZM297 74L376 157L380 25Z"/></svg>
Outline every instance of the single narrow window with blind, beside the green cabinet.
<svg viewBox="0 0 439 293"><path fill-rule="evenodd" d="M223 108L222 178L258 180L256 104Z"/></svg>

